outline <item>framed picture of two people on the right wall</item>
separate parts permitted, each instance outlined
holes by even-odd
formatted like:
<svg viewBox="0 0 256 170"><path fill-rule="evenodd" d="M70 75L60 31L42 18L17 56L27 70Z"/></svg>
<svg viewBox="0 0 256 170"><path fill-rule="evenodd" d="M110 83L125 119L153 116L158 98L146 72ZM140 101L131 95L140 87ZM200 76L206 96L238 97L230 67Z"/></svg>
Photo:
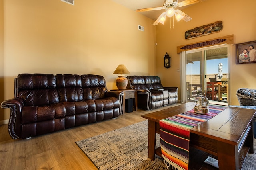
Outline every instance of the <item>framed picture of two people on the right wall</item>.
<svg viewBox="0 0 256 170"><path fill-rule="evenodd" d="M256 40L236 44L236 64L256 63Z"/></svg>

